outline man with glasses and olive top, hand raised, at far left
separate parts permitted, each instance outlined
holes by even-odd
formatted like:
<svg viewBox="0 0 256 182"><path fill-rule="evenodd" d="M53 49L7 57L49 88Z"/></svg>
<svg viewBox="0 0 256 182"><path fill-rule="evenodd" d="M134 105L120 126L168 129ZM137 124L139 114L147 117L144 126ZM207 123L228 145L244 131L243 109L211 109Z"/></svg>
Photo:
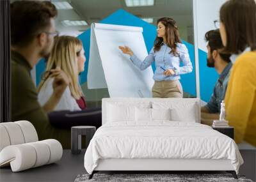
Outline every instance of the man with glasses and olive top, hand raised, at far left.
<svg viewBox="0 0 256 182"><path fill-rule="evenodd" d="M58 104L70 79L58 68L51 70L54 91L41 107L30 73L51 52L54 36L58 35L54 26L57 10L49 1L15 1L10 9L12 121L28 120L35 126L39 140L56 139L63 148L70 148L70 129L54 128L45 112Z"/></svg>

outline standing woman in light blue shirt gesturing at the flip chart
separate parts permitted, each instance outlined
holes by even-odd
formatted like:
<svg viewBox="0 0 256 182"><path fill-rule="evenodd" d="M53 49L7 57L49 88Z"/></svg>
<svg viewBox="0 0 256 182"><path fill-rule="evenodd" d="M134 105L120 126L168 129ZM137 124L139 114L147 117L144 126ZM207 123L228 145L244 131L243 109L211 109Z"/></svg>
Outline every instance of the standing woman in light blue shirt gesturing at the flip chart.
<svg viewBox="0 0 256 182"><path fill-rule="evenodd" d="M154 98L182 98L183 91L179 82L180 75L192 72L188 49L182 44L175 20L163 17L157 20L157 37L154 47L144 61L132 52L129 47L119 46L124 54L129 54L132 63L140 70L145 70L154 61L156 72L152 87ZM180 66L182 61L183 66Z"/></svg>

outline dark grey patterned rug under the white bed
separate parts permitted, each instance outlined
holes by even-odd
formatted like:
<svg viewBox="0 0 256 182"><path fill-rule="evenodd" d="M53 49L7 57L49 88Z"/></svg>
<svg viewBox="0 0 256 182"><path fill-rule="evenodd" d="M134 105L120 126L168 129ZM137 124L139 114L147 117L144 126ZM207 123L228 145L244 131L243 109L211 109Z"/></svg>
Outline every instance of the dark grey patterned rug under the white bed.
<svg viewBox="0 0 256 182"><path fill-rule="evenodd" d="M190 181L209 181L209 182L229 182L229 181L243 181L253 182L251 179L246 179L244 176L238 176L234 179L232 174L94 174L92 179L88 179L89 174L78 175L75 182L85 181L172 181L172 182L190 182Z"/></svg>

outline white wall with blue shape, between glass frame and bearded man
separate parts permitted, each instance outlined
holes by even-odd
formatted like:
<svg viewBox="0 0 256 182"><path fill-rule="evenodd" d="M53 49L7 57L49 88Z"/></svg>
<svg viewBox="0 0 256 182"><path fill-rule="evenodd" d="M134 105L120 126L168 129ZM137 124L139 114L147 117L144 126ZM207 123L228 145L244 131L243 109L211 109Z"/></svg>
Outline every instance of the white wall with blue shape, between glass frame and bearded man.
<svg viewBox="0 0 256 182"><path fill-rule="evenodd" d="M214 86L214 82L205 85L205 81L213 79L214 77L211 77L212 73L209 75L200 75L200 73L204 74L207 68L205 64L202 64L205 63L205 57L202 56L202 54L198 54L198 49L207 52L207 43L204 40L204 35L207 31L216 29L216 27L214 27L214 20L219 19L219 11L223 3L225 3L225 0L193 0L196 97L203 98L205 101L209 100L209 93L212 92L212 87ZM199 65L201 65L201 67ZM202 79L202 77L204 77L204 79ZM200 90L200 86L204 87L203 91Z"/></svg>

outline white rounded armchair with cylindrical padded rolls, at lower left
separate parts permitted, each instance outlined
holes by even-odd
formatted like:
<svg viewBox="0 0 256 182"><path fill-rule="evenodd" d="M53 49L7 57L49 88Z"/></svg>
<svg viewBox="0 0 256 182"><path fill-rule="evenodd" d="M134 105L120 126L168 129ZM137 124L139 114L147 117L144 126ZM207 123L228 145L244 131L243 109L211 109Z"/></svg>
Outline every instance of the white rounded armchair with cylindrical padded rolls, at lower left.
<svg viewBox="0 0 256 182"><path fill-rule="evenodd" d="M38 141L29 121L0 123L0 167L11 166L13 172L56 162L63 149L58 140Z"/></svg>

